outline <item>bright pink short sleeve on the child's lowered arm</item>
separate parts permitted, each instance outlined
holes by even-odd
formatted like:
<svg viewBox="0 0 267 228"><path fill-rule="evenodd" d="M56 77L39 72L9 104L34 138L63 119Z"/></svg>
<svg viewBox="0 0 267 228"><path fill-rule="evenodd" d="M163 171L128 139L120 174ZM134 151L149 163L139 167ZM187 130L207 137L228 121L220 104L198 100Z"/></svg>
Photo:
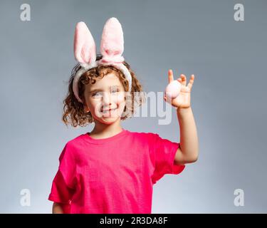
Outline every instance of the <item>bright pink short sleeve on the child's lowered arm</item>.
<svg viewBox="0 0 267 228"><path fill-rule="evenodd" d="M69 204L75 192L75 159L68 143L59 157L59 167L53 179L48 200Z"/></svg>

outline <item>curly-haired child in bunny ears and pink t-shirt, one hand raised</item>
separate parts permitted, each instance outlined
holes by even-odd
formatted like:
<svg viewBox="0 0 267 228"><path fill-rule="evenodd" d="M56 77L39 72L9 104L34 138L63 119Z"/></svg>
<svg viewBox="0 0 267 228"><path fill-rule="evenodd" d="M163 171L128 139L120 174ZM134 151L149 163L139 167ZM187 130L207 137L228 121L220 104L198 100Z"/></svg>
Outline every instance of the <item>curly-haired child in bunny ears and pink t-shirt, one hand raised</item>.
<svg viewBox="0 0 267 228"><path fill-rule="evenodd" d="M74 55L79 62L70 77L64 100L63 122L73 127L95 123L90 133L66 143L59 157L51 194L53 213L151 214L152 187L165 174L179 174L198 157L197 129L190 106L192 75L176 98L164 100L177 110L181 142L155 133L135 133L121 127L121 120L142 105L142 86L122 57L120 22L109 19L96 56L88 27L75 28ZM169 71L169 83L174 82Z"/></svg>

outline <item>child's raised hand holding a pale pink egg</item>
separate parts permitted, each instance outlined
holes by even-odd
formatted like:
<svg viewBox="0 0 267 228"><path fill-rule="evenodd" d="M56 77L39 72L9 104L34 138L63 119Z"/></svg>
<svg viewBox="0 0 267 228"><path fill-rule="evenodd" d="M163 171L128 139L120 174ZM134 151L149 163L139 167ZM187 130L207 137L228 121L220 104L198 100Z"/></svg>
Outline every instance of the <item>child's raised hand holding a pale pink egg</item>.
<svg viewBox="0 0 267 228"><path fill-rule="evenodd" d="M172 70L168 71L169 83L174 80ZM190 94L194 83L194 75L192 74L190 81L187 85L187 77L181 74L177 81L181 83L181 90L177 98L169 98L164 95L164 100L170 103L175 108L190 108Z"/></svg>

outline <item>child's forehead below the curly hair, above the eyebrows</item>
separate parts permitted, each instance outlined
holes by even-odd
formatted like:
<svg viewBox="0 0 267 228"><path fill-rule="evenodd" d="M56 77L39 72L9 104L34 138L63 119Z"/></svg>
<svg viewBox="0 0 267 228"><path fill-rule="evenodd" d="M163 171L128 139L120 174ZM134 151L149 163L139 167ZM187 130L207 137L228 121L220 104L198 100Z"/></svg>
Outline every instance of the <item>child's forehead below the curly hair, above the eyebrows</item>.
<svg viewBox="0 0 267 228"><path fill-rule="evenodd" d="M88 84L86 87L89 90L93 89L105 89L105 88L110 88L110 86L122 86L122 83L120 82L120 79L115 76L114 73L109 73L103 78L100 78L95 81L93 84Z"/></svg>

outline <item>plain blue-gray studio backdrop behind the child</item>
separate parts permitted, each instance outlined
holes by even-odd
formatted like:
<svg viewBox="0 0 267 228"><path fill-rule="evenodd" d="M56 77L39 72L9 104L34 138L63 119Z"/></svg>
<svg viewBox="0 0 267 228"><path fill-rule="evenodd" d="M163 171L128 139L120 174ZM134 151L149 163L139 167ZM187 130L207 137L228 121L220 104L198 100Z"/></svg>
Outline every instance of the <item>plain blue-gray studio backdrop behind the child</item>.
<svg viewBox="0 0 267 228"><path fill-rule="evenodd" d="M31 5L31 21L20 6ZM245 21L234 21L234 4ZM98 52L105 21L115 16L125 60L144 90L163 91L167 70L192 73L199 160L154 187L152 213L267 212L267 1L1 1L0 212L51 213L58 156L68 140L92 130L61 122L75 66L75 24L85 21ZM179 141L179 124L158 117L122 122L130 131ZM20 204L31 191L31 207ZM234 190L245 193L234 205Z"/></svg>

